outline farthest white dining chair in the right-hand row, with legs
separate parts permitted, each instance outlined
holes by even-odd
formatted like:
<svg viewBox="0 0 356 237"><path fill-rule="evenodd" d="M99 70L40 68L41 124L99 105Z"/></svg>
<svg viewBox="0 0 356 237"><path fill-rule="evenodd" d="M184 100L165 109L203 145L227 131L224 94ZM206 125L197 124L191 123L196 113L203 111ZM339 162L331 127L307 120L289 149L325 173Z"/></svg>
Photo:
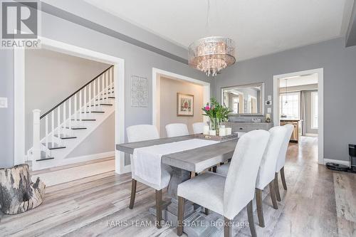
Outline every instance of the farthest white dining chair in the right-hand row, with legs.
<svg viewBox="0 0 356 237"><path fill-rule="evenodd" d="M286 127L286 137L284 137L281 151L278 154L277 164L276 164L276 174L274 177L274 186L276 189L276 197L278 201L281 201L281 194L279 193L279 185L278 185L278 172L281 171L281 179L283 184L283 189L287 190L286 177L284 176L284 164L286 163L286 154L288 149L288 144L290 140L290 136L293 133L294 125L284 125Z"/></svg>

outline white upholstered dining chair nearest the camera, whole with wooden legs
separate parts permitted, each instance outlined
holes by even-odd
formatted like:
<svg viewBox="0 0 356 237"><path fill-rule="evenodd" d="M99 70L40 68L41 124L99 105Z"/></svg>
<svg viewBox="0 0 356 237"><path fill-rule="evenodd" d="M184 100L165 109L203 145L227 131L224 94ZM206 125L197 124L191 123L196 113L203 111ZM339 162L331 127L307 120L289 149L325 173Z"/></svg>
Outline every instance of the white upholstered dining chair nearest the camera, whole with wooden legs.
<svg viewBox="0 0 356 237"><path fill-rule="evenodd" d="M231 220L247 206L251 234L256 236L252 200L268 137L264 130L254 130L241 137L231 159L234 172L228 172L227 177L205 172L178 185L178 236L183 233L184 199L224 216L224 236L230 236Z"/></svg>

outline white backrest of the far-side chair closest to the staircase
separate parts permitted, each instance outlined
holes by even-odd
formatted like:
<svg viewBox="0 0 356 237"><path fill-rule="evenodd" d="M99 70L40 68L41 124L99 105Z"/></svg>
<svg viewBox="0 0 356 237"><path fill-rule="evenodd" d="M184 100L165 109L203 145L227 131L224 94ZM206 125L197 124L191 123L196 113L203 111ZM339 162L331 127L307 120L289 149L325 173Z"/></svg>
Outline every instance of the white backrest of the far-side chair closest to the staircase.
<svg viewBox="0 0 356 237"><path fill-rule="evenodd" d="M157 127L154 125L134 125L127 127L128 142L141 142L151 139L159 139Z"/></svg>

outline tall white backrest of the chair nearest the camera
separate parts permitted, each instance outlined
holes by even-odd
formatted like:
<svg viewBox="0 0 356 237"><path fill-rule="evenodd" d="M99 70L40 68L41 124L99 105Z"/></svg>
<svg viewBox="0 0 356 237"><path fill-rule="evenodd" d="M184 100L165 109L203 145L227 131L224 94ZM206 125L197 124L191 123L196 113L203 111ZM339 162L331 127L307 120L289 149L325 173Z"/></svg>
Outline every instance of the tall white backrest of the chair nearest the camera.
<svg viewBox="0 0 356 237"><path fill-rule="evenodd" d="M233 219L253 199L269 132L247 132L236 144L224 187L224 216Z"/></svg>

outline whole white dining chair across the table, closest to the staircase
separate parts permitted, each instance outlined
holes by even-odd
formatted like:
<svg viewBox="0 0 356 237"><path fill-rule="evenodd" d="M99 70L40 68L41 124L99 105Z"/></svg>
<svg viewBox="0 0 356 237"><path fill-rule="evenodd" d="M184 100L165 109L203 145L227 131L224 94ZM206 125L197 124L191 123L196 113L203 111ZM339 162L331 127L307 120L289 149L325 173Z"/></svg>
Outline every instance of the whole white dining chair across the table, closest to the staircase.
<svg viewBox="0 0 356 237"><path fill-rule="evenodd" d="M155 127L154 125L134 125L131 127L127 127L126 132L128 142L141 142L150 139L159 139L157 127ZM133 159L132 155L130 156L130 159L132 184L129 208L133 209L133 206L135 204L137 181L152 187L153 189L155 189L156 193L157 228L161 228L160 223L162 221L162 189L168 186L169 180L171 179L171 174L169 174L169 170L167 170L165 167L162 167L162 181L160 182L160 186L157 186L156 184L151 184L135 175L135 160Z"/></svg>

